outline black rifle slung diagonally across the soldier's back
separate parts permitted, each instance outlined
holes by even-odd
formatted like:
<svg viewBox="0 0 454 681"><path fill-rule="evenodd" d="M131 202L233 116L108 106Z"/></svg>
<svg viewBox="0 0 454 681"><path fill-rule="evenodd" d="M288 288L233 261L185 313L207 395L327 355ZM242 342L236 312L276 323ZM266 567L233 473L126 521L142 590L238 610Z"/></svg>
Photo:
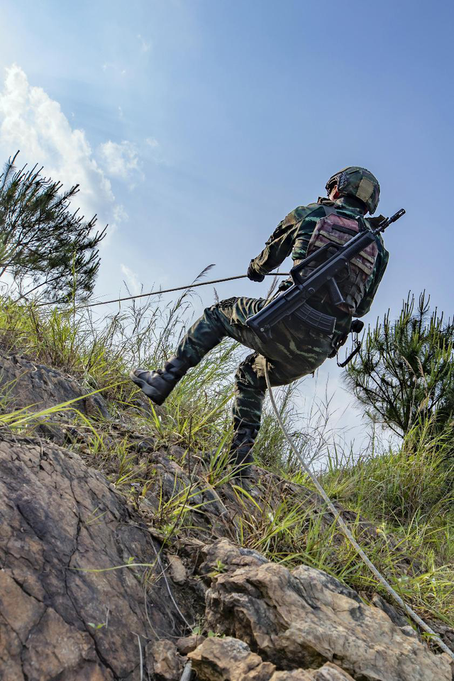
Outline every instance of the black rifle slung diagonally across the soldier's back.
<svg viewBox="0 0 454 681"><path fill-rule="evenodd" d="M270 337L271 328L282 321L284 317L294 314L312 328L331 336L336 327L336 317L315 310L306 301L326 284L331 302L334 305L341 305L345 302L335 278L338 272L343 267L347 267L350 260L353 260L364 248L373 243L377 234L383 232L391 223L402 218L404 214L405 211L402 208L390 218L384 218L376 229L360 231L342 246L327 243L316 250L316 253L309 255L309 258L305 258L290 270L294 282L292 286L272 299L260 312L249 317L246 324L253 329L262 341L267 341ZM323 254L326 255L328 248L336 248L336 253L322 262L319 267L316 267L308 277L303 278L301 270L304 270L309 262L319 259Z"/></svg>

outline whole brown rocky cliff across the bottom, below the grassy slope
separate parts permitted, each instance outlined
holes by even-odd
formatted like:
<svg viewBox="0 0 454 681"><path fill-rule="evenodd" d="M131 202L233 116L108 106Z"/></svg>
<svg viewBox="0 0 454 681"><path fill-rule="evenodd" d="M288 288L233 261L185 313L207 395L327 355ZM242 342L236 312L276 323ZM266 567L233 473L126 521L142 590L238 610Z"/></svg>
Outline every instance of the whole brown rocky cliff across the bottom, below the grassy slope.
<svg viewBox="0 0 454 681"><path fill-rule="evenodd" d="M17 356L0 364L9 409L81 398L82 414L109 424L107 447L127 438L150 480L114 485L85 446L87 423L65 412L1 428L2 680L451 681L448 656L381 597L239 546L239 519L270 487L330 526L310 489L257 469L238 494L196 453L158 445L61 372ZM380 541L372 524L359 527ZM417 569L394 550L403 571ZM453 646L453 631L438 631Z"/></svg>

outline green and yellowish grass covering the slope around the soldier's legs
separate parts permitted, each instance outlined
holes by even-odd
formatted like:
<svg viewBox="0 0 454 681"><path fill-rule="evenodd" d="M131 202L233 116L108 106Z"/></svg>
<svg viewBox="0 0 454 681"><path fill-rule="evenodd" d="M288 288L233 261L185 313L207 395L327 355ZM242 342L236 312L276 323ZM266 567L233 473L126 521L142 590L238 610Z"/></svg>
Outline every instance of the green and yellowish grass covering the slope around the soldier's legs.
<svg viewBox="0 0 454 681"><path fill-rule="evenodd" d="M215 490L222 496L225 485L230 485L240 509L230 528L238 543L289 567L305 563L326 570L365 594L381 592L336 526L327 523L314 504L294 492L277 494L275 485L265 482L260 496L252 494L231 480L222 456L201 466L210 453L225 451L231 433L233 370L241 353L235 343L222 343L189 372L165 409L148 404L144 409L138 402L140 392L127 378L130 368L161 366L175 350L191 314L189 293L167 306L161 300L131 305L96 322L87 311L38 309L0 299L1 345L74 375L89 391L99 391L107 399L115 417L114 423L88 419L77 411L77 402L13 411L9 385L0 402L0 427L27 432L57 412L63 422L75 423L81 438L71 446L103 470L139 510L151 495L153 517L147 521L166 541L197 533L210 503L201 502L201 492ZM452 424L436 431L422 421L392 448L381 451L376 442L370 453L353 455L326 443L323 410L314 412L301 428L301 414L294 407L296 391L294 385L277 391L287 428L305 460L316 457L322 445L331 454L321 482L332 499L355 512L353 531L366 553L423 616L454 626ZM153 438L155 451L178 445L178 463L189 482L175 477L172 492L166 492L153 461L138 453L133 431ZM267 405L255 457L280 480L311 487ZM376 527L375 536L365 535L360 517ZM403 560L405 556L410 560Z"/></svg>

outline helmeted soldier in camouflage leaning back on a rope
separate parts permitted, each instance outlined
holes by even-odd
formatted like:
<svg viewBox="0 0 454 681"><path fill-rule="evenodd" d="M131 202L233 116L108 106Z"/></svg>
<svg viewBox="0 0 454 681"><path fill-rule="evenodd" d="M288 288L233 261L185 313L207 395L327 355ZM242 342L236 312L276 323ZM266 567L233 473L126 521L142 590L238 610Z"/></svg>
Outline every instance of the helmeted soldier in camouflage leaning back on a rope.
<svg viewBox="0 0 454 681"><path fill-rule="evenodd" d="M338 221L340 225L358 224L363 229L375 226L382 219L382 216L364 218L367 212L375 213L380 196L380 184L369 170L361 167L344 168L328 179L326 191L328 198L319 198L314 204L299 206L279 223L262 253L250 261L249 279L262 282L265 275L278 267L288 255L292 254L294 265L297 265L308 253L313 253L322 243L326 243L327 239L340 243L339 237L345 241L353 236L353 231L342 226L338 227L340 231L337 232L336 228L331 232L329 228L328 231L327 228L324 231L316 228L317 224L321 224L321 219L328 215L344 218ZM240 475L250 475L250 464L253 463L251 449L260 428L266 392L265 362L271 384L279 386L311 374L326 358L334 356L341 343L345 342L353 316L359 317L369 311L387 266L388 253L381 236L377 236L375 243L372 254L362 253L367 260L363 258L350 262L348 275L340 284L347 305L333 305L326 294L318 294L310 300L314 309L336 317L336 328L332 335L306 326L297 316L291 316L273 327L269 341L262 341L246 326L245 321L262 309L267 300L229 298L206 308L179 343L176 355L166 362L164 369L135 369L130 374L131 379L152 402L162 404L187 370L200 362L226 336L254 350L241 362L236 372L233 440L229 452L229 461L238 467ZM283 282L279 289L291 284L291 280Z"/></svg>

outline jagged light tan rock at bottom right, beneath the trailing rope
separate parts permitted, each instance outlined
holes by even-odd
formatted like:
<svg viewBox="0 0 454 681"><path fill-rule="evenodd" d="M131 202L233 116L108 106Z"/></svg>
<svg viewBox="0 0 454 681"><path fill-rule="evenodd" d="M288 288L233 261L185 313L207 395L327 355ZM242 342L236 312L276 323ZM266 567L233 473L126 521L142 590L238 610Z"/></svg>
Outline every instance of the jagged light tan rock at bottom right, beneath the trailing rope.
<svg viewBox="0 0 454 681"><path fill-rule="evenodd" d="M216 547L230 555L226 540ZM387 614L327 585L325 573L282 565L244 565L214 577L206 594L208 625L235 636L277 668L318 668L336 662L362 681L451 681L447 655L433 655L406 636Z"/></svg>

